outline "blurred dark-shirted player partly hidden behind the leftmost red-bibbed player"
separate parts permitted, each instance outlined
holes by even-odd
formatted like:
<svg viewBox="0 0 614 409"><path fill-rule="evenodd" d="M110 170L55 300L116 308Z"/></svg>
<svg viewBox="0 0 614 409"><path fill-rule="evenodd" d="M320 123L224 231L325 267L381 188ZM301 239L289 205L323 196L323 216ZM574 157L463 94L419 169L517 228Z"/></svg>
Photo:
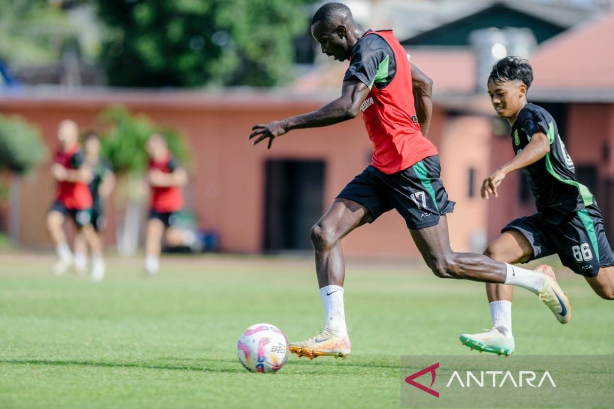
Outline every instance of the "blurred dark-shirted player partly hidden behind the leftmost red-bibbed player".
<svg viewBox="0 0 614 409"><path fill-rule="evenodd" d="M102 243L101 232L106 227L104 207L115 186L115 175L111 164L100 158L100 139L94 132L88 132L84 139L85 163L90 167L92 178L88 187L92 199L91 225ZM77 272L84 272L87 264L87 242L79 232L74 243L74 266Z"/></svg>

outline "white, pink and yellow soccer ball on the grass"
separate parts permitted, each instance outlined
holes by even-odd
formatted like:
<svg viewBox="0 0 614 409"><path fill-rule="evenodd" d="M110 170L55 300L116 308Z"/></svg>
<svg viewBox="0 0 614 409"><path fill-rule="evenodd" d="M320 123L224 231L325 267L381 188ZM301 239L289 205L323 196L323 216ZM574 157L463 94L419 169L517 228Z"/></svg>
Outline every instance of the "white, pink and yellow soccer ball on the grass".
<svg viewBox="0 0 614 409"><path fill-rule="evenodd" d="M274 325L254 324L243 332L236 350L249 372L277 372L288 359L288 338Z"/></svg>

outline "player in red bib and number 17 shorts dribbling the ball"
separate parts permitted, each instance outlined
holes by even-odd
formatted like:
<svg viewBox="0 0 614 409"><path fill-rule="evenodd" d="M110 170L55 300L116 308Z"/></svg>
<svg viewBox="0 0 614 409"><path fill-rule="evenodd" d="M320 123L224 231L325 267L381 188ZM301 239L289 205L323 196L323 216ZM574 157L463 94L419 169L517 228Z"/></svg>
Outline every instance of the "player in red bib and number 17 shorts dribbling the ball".
<svg viewBox="0 0 614 409"><path fill-rule="evenodd" d="M448 200L439 178L437 148L424 137L432 114L432 81L410 64L392 31L365 31L348 7L327 3L315 13L311 33L322 53L351 61L341 96L314 112L257 124L249 138L254 144L267 140L271 148L276 138L293 129L328 126L362 112L373 158L311 229L325 325L315 337L290 343L290 351L311 359L350 353L341 239L392 208L405 219L422 258L437 277L518 285L538 294L555 315L561 310L566 314L569 300L554 275L451 250L445 215L453 211L454 202Z"/></svg>

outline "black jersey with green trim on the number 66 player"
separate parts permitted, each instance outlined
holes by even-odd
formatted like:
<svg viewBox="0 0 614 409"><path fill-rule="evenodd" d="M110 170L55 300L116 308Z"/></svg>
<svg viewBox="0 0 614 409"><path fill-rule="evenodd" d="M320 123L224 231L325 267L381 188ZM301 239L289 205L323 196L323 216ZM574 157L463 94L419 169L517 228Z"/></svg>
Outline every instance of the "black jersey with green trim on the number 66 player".
<svg viewBox="0 0 614 409"><path fill-rule="evenodd" d="M593 204L593 193L575 177L572 159L559 136L554 119L542 107L526 104L511 128L512 146L516 155L537 132L550 140L550 152L523 169L535 196L537 212L549 223L558 224L570 213Z"/></svg>

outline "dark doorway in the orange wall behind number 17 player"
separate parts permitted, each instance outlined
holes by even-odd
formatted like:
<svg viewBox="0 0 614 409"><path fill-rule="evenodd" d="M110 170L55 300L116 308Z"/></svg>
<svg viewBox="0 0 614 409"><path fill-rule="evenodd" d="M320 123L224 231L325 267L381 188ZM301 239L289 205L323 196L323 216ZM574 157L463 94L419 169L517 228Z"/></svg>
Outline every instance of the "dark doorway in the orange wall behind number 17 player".
<svg viewBox="0 0 614 409"><path fill-rule="evenodd" d="M311 250L309 231L322 216L324 161L266 161L264 250Z"/></svg>

